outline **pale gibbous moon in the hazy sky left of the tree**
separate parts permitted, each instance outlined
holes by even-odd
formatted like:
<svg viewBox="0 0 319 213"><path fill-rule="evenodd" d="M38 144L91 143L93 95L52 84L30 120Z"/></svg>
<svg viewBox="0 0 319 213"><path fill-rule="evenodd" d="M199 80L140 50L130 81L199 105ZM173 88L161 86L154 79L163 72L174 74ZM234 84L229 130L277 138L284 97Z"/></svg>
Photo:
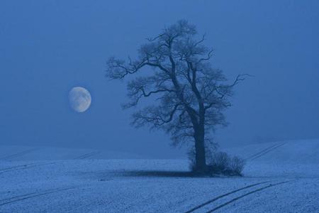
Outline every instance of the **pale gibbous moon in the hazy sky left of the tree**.
<svg viewBox="0 0 319 213"><path fill-rule="evenodd" d="M69 105L74 111L84 112L91 105L91 94L84 87L73 87L69 91Z"/></svg>

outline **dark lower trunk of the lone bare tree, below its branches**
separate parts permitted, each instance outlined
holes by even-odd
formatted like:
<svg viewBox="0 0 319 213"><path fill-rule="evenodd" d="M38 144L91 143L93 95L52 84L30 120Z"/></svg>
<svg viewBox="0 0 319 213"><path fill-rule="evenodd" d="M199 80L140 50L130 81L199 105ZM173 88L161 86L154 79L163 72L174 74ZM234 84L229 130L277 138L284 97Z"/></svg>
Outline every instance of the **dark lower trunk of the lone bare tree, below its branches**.
<svg viewBox="0 0 319 213"><path fill-rule="evenodd" d="M196 171L203 173L206 171L206 151L205 151L205 142L204 142L204 127L199 125L195 130L195 156L196 156Z"/></svg>

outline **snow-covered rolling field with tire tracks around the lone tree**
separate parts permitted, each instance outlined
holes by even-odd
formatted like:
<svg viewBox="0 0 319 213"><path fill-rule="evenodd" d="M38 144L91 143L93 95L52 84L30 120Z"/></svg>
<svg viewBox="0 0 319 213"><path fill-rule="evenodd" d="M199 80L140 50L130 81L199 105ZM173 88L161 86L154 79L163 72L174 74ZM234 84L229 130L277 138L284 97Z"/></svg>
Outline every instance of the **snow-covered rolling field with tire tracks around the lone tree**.
<svg viewBox="0 0 319 213"><path fill-rule="evenodd" d="M242 178L194 178L187 160L0 148L0 212L319 212L318 140L228 149L247 159Z"/></svg>

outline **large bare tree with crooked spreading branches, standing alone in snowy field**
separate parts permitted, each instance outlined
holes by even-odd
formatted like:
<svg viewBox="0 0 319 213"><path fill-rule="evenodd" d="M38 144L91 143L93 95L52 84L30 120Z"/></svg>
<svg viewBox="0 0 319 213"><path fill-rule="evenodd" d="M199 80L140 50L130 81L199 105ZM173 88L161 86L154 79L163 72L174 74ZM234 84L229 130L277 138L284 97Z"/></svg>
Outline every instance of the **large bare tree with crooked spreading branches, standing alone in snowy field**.
<svg viewBox="0 0 319 213"><path fill-rule="evenodd" d="M124 108L135 107L142 98L156 101L133 114L133 125L162 129L172 136L174 145L194 141L195 168L204 171L209 132L226 124L223 110L230 107L228 97L243 78L238 75L233 84L227 84L223 72L209 62L213 50L203 45L205 36L197 39L196 35L194 25L178 21L147 39L136 60L109 58L106 75L121 80L144 70L145 75L128 82L130 102Z"/></svg>

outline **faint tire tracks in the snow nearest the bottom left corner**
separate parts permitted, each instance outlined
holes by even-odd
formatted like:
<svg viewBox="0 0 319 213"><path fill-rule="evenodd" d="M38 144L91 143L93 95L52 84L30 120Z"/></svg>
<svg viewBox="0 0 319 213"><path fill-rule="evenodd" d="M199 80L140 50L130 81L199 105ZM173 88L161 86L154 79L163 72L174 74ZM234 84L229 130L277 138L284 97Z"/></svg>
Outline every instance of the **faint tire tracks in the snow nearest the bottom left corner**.
<svg viewBox="0 0 319 213"><path fill-rule="evenodd" d="M0 200L0 206L4 206L6 204L11 204L11 203L14 203L14 202L19 202L21 200L27 200L27 199L30 199L30 198L33 198L33 197L40 197L40 196L43 196L43 195L48 195L48 194L52 194L52 193L55 193L55 192L62 192L62 191L65 191L65 190L72 190L72 189L76 189L76 188L77 187L56 188L56 189L53 189L53 190L45 190L43 192L33 192L33 193L24 194L24 195L17 195L17 196L14 196L14 197L6 198L4 200Z"/></svg>

